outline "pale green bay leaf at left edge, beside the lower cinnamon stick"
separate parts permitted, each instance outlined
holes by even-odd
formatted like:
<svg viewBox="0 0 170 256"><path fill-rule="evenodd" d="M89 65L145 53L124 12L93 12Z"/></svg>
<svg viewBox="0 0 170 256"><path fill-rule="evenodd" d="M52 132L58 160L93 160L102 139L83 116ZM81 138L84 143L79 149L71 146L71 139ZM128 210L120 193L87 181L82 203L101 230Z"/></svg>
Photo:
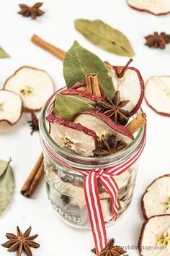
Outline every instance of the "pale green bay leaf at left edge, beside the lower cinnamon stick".
<svg viewBox="0 0 170 256"><path fill-rule="evenodd" d="M0 214L9 205L14 191L14 176L10 161L0 160Z"/></svg>

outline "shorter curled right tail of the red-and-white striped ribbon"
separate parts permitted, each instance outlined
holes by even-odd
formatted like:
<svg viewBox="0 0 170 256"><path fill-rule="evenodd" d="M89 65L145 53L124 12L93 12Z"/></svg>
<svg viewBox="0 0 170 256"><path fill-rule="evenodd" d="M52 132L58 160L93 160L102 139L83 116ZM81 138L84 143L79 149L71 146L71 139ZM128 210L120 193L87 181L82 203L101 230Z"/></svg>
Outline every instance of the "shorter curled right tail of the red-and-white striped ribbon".
<svg viewBox="0 0 170 256"><path fill-rule="evenodd" d="M112 199L112 212L114 213L114 215L111 220L116 221L118 216L118 210L120 208L119 201L117 199L117 194L119 191L117 183L115 182L113 176L107 176L107 174L104 174L104 176L100 176L99 182L103 185L103 187L106 189Z"/></svg>

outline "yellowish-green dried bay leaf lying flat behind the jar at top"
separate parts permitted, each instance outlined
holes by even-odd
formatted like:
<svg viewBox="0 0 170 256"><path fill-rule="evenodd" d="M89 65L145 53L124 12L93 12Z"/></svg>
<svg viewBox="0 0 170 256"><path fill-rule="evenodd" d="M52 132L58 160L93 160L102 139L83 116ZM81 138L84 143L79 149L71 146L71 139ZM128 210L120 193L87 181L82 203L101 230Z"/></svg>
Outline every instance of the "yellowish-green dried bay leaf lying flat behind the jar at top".
<svg viewBox="0 0 170 256"><path fill-rule="evenodd" d="M76 20L74 24L76 30L100 48L120 56L132 57L135 55L128 38L102 20L80 19Z"/></svg>

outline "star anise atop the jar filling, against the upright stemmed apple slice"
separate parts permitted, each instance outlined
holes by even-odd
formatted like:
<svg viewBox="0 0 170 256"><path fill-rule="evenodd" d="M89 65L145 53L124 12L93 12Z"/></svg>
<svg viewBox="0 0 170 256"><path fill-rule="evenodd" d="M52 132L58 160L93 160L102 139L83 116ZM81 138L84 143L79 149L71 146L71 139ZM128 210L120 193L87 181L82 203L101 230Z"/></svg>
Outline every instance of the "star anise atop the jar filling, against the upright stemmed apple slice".
<svg viewBox="0 0 170 256"><path fill-rule="evenodd" d="M128 123L130 113L122 108L129 102L130 101L120 101L120 91L117 90L112 101L107 98L107 102L99 101L97 105L102 114L109 116L117 124L125 125Z"/></svg>

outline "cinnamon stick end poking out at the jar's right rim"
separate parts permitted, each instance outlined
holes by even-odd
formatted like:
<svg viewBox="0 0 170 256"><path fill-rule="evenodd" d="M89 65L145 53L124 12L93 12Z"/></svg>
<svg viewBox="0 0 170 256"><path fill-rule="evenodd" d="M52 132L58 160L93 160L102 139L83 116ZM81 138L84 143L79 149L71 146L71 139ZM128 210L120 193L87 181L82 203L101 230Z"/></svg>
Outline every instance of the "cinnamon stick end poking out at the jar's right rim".
<svg viewBox="0 0 170 256"><path fill-rule="evenodd" d="M138 116L133 119L133 121L130 121L130 123L127 125L127 128L130 130L130 132L134 133L140 129L144 124L146 124L146 114L140 113Z"/></svg>

